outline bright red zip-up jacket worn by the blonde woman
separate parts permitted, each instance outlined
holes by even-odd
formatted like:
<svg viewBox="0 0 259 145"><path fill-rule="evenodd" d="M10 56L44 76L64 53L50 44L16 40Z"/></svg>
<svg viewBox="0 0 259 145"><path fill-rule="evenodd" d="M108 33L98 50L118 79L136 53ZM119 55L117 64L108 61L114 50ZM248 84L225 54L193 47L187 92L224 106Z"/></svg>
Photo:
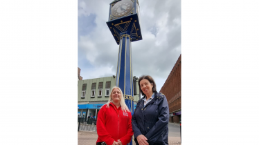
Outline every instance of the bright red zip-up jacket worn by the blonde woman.
<svg viewBox="0 0 259 145"><path fill-rule="evenodd" d="M115 142L120 142L126 145L132 139L132 114L124 112L110 103L109 108L105 104L100 108L97 119L97 142L106 142L111 145Z"/></svg>

